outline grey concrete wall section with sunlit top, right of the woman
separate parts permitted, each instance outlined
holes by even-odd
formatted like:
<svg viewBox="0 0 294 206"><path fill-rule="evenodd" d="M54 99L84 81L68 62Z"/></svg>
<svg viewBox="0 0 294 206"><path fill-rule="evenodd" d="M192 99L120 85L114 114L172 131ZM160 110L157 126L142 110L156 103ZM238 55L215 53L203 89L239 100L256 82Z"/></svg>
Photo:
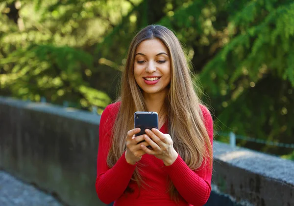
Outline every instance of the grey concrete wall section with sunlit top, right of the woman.
<svg viewBox="0 0 294 206"><path fill-rule="evenodd" d="M294 162L214 143L213 183L236 201L255 206L294 205Z"/></svg>

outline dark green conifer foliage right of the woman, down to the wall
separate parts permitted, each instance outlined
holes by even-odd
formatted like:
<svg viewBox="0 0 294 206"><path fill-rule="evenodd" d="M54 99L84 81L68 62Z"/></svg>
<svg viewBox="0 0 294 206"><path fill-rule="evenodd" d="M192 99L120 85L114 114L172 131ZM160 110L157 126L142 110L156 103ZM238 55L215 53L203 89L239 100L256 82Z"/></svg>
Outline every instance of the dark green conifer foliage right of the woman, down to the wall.
<svg viewBox="0 0 294 206"><path fill-rule="evenodd" d="M219 126L293 142L293 1L248 1L228 19L228 43L200 73L205 91L217 103ZM263 150L285 152L270 146Z"/></svg>

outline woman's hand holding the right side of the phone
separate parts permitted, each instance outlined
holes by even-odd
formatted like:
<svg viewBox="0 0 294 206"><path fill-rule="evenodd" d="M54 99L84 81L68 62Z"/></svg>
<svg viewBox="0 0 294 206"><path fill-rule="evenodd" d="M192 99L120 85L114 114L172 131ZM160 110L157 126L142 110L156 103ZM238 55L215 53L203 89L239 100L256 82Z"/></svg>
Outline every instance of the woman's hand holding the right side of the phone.
<svg viewBox="0 0 294 206"><path fill-rule="evenodd" d="M146 129L145 132L146 134L144 135L144 139L153 148L153 150L148 149L145 145L141 145L142 150L144 150L147 154L154 155L158 159L161 159L164 165L172 165L178 157L178 153L173 148L171 136L169 134L163 134L155 128L153 128L152 131Z"/></svg>

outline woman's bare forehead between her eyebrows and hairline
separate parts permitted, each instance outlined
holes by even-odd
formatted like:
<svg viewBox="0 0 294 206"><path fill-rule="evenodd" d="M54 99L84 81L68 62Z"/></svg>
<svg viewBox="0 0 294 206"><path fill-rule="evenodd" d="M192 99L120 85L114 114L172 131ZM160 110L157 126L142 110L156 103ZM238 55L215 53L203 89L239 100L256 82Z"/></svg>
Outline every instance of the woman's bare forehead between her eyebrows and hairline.
<svg viewBox="0 0 294 206"><path fill-rule="evenodd" d="M143 53L145 55L147 55L147 54L155 54L156 55L160 52L165 52L165 53L169 54L168 48L159 39L142 41L136 49L136 53L138 53L138 52Z"/></svg>

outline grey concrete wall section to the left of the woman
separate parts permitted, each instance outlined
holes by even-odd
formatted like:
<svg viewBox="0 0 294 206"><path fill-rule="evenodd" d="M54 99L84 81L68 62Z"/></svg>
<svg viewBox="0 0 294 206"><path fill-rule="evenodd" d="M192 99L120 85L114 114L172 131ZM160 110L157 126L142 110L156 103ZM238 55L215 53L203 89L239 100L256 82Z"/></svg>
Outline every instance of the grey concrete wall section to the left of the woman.
<svg viewBox="0 0 294 206"><path fill-rule="evenodd" d="M96 195L99 116L0 98L0 167L71 206Z"/></svg>

